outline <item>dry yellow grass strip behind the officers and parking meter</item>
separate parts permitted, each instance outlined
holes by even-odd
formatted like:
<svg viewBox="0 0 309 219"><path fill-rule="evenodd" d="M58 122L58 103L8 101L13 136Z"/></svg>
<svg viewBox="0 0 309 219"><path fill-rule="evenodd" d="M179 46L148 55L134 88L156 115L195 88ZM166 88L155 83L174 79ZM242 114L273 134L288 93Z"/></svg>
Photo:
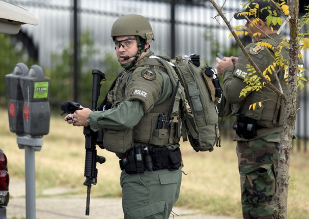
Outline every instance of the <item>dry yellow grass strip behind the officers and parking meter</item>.
<svg viewBox="0 0 309 219"><path fill-rule="evenodd" d="M9 160L13 179L24 179L24 150L16 144L16 135L9 131L6 109L0 109L2 126L0 147ZM212 152L195 152L182 143L184 168L180 199L177 206L199 209L202 213L241 217L240 185L235 152L236 143L222 139L221 148ZM106 162L98 168L98 183L92 186L91 196L121 197L120 169L115 154L98 148ZM85 138L82 128L69 126L61 116L52 116L50 132L43 137L41 151L36 152L37 195L48 187L68 186L75 194L86 196L83 186ZM289 218L306 218L309 214L308 153L292 151L290 184L297 190L289 193Z"/></svg>

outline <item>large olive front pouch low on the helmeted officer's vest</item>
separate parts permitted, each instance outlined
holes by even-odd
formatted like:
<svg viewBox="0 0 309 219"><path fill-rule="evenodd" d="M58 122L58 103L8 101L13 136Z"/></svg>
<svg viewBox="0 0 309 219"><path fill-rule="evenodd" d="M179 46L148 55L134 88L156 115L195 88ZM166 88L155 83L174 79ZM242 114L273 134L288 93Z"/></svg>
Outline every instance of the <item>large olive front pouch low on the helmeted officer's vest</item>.
<svg viewBox="0 0 309 219"><path fill-rule="evenodd" d="M124 153L133 147L133 129L103 129L103 146L106 150Z"/></svg>

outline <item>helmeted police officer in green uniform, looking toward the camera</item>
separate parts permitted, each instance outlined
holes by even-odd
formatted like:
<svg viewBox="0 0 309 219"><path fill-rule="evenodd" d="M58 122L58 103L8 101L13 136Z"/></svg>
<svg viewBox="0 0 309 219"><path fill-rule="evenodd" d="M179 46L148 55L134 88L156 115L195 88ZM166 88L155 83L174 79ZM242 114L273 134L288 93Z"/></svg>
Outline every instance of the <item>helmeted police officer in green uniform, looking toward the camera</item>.
<svg viewBox="0 0 309 219"><path fill-rule="evenodd" d="M166 119L175 88L162 66L147 61L157 56L150 50L154 33L145 17L118 18L111 37L125 70L108 93L110 109L83 108L68 115L73 121L65 120L93 131L103 128L103 146L120 158L124 218L167 219L181 184L178 124Z"/></svg>

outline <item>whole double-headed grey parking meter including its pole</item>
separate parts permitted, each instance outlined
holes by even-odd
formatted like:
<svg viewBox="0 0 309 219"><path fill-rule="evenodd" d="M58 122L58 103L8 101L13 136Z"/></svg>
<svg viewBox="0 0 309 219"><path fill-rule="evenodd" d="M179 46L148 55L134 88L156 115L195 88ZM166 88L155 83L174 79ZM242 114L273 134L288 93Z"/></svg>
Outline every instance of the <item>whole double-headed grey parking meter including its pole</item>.
<svg viewBox="0 0 309 219"><path fill-rule="evenodd" d="M26 218L36 219L35 151L41 150L42 136L49 133L49 78L40 66L28 71L24 64L17 64L6 75L6 85L10 131L17 134L18 147L25 150Z"/></svg>

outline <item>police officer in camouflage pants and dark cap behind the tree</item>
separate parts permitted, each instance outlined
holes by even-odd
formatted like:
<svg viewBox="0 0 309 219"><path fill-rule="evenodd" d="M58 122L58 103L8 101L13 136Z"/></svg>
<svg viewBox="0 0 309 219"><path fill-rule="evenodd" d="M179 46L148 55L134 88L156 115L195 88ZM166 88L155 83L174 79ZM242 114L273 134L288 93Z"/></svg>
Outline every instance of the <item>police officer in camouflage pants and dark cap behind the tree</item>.
<svg viewBox="0 0 309 219"><path fill-rule="evenodd" d="M269 9L274 12L276 7L267 1L254 1L248 5L245 12L259 5L256 15L248 15L253 21L260 18L255 25L246 22L245 27L249 32L252 43L245 47L252 60L263 72L274 61L274 53L278 45L283 41L283 35L278 33L279 26L267 26L266 17ZM235 19L245 19L244 13L236 13ZM279 12L272 16L279 16ZM261 31L262 30L262 31ZM258 35L254 35L259 33ZM258 42L269 43L272 49L258 45ZM281 55L288 59L289 52L283 48ZM230 109L237 115L237 121L233 124L236 131L237 156L241 183L241 202L243 218L245 219L270 219L274 218L275 190L278 164L278 152L281 134L283 131L283 119L285 114L284 102L267 87L260 91L248 91L246 97L239 97L240 91L247 85L243 80L248 76L247 65L251 66L245 55L241 52L239 57L216 58L217 70L223 75L224 98L231 105ZM300 60L300 64L301 64ZM272 74L267 73L271 83L279 89L275 76L286 93L287 72L284 69L275 68ZM258 103L262 102L260 106ZM250 107L251 104L256 107Z"/></svg>

